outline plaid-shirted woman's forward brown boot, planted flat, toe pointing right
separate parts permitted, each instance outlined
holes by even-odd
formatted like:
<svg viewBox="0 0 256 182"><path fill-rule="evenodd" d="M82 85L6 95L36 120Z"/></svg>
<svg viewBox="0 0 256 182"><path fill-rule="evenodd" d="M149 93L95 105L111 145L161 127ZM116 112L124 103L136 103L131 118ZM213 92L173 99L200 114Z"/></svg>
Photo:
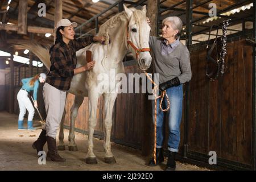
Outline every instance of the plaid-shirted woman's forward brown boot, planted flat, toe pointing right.
<svg viewBox="0 0 256 182"><path fill-rule="evenodd" d="M56 139L47 136L47 145L48 145L48 152L46 159L52 160L54 162L65 162L66 159L61 158L58 154L57 146L56 146Z"/></svg>

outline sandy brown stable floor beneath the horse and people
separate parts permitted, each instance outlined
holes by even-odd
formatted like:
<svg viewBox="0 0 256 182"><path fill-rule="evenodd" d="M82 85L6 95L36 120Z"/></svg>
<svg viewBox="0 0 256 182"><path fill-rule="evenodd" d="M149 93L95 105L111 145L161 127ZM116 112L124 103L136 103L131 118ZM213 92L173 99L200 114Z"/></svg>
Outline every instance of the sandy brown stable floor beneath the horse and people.
<svg viewBox="0 0 256 182"><path fill-rule="evenodd" d="M38 164L36 151L31 144L36 140L41 132L18 130L18 115L0 112L0 170L93 170L93 171L161 171L164 169L166 160L163 164L156 167L147 166L148 158L141 155L139 150L112 143L112 151L115 155L116 164L104 163L103 140L94 139L94 152L98 164L86 164L86 141L87 135L75 133L76 144L79 151L59 151L60 156L67 159L64 163L46 161L45 165ZM40 126L39 122L34 122L34 126ZM68 145L68 130L64 130L64 142ZM57 140L57 143L59 141ZM47 152L47 144L44 146ZM177 170L207 170L190 164L177 162Z"/></svg>

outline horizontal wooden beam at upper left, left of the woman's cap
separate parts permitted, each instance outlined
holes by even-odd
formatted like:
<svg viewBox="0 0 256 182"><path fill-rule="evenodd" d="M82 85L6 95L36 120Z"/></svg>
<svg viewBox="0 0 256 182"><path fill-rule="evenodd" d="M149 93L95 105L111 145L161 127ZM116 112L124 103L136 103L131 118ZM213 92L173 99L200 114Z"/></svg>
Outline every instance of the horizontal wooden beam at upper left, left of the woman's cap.
<svg viewBox="0 0 256 182"><path fill-rule="evenodd" d="M14 24L0 24L0 30L7 30L7 31L18 31L18 26ZM37 33L37 34L53 34L53 28L44 28L44 27L32 27L28 26L27 31L31 33Z"/></svg>

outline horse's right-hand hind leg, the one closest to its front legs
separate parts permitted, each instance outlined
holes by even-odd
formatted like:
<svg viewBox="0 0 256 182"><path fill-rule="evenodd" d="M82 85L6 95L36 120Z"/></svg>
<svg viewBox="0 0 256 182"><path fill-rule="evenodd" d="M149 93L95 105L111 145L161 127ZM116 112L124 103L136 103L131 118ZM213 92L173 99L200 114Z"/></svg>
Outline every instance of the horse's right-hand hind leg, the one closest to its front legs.
<svg viewBox="0 0 256 182"><path fill-rule="evenodd" d="M69 135L68 135L68 140L69 140L69 144L68 144L68 150L69 151L77 151L77 146L75 143L75 121L76 121L76 117L77 117L77 113L79 110L79 107L82 104L82 101L84 101L84 97L82 96L75 96L75 101L73 106L71 107L71 117L70 117L70 129L69 129Z"/></svg>

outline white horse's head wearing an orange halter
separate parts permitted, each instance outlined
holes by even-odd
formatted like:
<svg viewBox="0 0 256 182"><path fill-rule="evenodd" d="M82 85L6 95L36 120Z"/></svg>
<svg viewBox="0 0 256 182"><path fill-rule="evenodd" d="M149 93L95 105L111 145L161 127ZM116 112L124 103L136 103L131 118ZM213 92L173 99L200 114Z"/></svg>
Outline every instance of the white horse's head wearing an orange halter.
<svg viewBox="0 0 256 182"><path fill-rule="evenodd" d="M146 70L150 67L152 57L149 49L150 26L146 20L146 6L141 10L127 9L125 13L129 23L127 27L127 46L136 58L139 68Z"/></svg>

